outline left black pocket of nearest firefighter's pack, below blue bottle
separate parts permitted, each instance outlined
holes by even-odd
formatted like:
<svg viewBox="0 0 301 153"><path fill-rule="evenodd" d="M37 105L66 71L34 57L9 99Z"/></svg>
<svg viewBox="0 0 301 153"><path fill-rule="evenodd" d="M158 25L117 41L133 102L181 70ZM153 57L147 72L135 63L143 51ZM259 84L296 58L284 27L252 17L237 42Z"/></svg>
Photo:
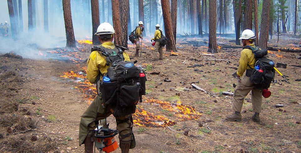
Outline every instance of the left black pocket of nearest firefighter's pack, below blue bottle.
<svg viewBox="0 0 301 153"><path fill-rule="evenodd" d="M100 90L105 104L116 103L117 82L110 82L110 83L102 82L100 84Z"/></svg>

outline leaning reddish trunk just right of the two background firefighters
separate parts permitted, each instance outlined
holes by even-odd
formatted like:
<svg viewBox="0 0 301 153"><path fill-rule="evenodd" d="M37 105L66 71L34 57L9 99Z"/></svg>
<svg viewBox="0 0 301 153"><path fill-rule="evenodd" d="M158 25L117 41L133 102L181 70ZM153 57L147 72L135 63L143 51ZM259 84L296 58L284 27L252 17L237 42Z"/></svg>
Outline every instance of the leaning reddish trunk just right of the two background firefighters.
<svg viewBox="0 0 301 153"><path fill-rule="evenodd" d="M171 21L171 14L170 14L170 4L169 0L161 0L162 6L162 13L163 13L163 21L164 21L164 30L166 34L166 38L168 39L166 44L166 51L177 51L176 50L176 42L173 36L173 29L172 29L172 21Z"/></svg>

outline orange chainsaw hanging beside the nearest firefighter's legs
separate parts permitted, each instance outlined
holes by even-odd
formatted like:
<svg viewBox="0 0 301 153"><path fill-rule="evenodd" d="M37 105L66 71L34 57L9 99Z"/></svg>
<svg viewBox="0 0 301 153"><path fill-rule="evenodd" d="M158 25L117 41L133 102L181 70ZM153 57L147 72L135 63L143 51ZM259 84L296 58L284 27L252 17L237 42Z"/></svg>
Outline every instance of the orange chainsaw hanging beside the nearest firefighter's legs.
<svg viewBox="0 0 301 153"><path fill-rule="evenodd" d="M117 141L114 136L119 132L109 128L109 124L99 125L94 129L95 131L95 147L99 150L99 153L109 153L118 148Z"/></svg>

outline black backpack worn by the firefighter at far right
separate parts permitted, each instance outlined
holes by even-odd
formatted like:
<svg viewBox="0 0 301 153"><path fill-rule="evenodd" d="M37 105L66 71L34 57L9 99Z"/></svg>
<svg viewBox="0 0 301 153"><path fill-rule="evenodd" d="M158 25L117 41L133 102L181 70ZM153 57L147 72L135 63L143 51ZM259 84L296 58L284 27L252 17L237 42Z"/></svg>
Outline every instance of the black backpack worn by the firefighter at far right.
<svg viewBox="0 0 301 153"><path fill-rule="evenodd" d="M243 48L249 48L252 50L257 60L254 66L258 66L259 70L262 70L261 72L254 68L250 76L250 82L255 84L256 89L269 88L275 76L275 63L271 59L267 58L267 49L259 49L257 46L253 48L249 45L244 46Z"/></svg>

